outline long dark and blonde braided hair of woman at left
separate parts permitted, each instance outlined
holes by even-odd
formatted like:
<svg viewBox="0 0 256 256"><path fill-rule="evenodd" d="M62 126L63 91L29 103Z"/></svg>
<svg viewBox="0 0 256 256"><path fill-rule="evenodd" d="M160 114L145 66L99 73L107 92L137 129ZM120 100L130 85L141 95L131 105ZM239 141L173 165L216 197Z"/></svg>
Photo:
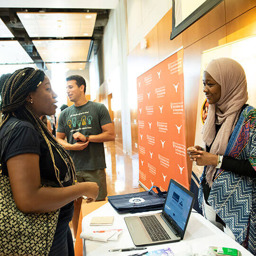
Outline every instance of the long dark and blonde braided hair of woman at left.
<svg viewBox="0 0 256 256"><path fill-rule="evenodd" d="M68 170L71 170L72 181L74 184L76 176L73 161L64 147L61 146L52 133L49 132L42 120L37 116L36 112L26 104L26 99L29 93L36 91L44 78L45 73L42 70L35 70L34 68L18 69L10 75L5 81L1 91L2 115L0 115L0 129L12 115L18 119L30 122L45 139L52 158L56 179L60 186L63 187L63 184L60 181L60 171L55 165L52 147L54 147L57 153L61 156Z"/></svg>

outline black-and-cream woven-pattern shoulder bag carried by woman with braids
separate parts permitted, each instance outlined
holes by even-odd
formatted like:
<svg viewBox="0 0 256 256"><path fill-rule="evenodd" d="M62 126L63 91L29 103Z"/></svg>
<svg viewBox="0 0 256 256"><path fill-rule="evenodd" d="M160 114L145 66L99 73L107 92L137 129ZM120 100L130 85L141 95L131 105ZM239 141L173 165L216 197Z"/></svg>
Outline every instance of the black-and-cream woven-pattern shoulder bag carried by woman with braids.
<svg viewBox="0 0 256 256"><path fill-rule="evenodd" d="M8 144L13 122L6 130L0 160ZM3 161L1 161L2 163ZM0 170L0 255L46 256L52 246L59 210L46 213L24 213L13 199L9 177Z"/></svg>

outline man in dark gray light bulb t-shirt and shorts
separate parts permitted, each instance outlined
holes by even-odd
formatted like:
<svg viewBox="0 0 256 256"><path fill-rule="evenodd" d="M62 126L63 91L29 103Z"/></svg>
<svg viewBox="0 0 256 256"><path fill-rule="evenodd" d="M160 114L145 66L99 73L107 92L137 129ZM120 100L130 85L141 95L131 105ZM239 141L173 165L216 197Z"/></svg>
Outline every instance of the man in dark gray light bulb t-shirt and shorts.
<svg viewBox="0 0 256 256"><path fill-rule="evenodd" d="M61 112L56 138L69 151L78 182L98 183L100 189L97 201L105 200L107 184L103 142L114 140L110 114L103 104L87 101L85 80L82 76L72 75L66 80L67 94L74 104ZM81 203L82 198L74 201L72 222L75 236Z"/></svg>

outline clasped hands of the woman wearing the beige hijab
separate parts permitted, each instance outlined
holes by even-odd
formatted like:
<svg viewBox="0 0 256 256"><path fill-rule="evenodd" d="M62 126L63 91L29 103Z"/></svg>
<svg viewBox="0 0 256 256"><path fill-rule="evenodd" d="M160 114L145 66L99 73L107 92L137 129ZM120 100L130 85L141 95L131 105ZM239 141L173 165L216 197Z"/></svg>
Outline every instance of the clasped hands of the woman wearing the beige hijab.
<svg viewBox="0 0 256 256"><path fill-rule="evenodd" d="M218 164L218 155L213 155L201 149L201 146L191 146L188 148L187 153L190 156L190 161L195 161L200 166Z"/></svg>

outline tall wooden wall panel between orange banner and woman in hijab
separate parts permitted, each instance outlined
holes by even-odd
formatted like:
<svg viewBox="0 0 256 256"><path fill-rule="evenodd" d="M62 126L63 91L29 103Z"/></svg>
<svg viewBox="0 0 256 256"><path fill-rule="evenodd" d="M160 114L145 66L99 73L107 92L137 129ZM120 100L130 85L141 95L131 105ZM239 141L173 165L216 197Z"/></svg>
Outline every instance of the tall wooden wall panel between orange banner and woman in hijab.
<svg viewBox="0 0 256 256"><path fill-rule="evenodd" d="M186 144L194 145L197 104L201 70L201 52L226 43L225 26L220 27L210 35L184 49L184 91L186 111ZM192 162L187 157L189 178L191 177Z"/></svg>

